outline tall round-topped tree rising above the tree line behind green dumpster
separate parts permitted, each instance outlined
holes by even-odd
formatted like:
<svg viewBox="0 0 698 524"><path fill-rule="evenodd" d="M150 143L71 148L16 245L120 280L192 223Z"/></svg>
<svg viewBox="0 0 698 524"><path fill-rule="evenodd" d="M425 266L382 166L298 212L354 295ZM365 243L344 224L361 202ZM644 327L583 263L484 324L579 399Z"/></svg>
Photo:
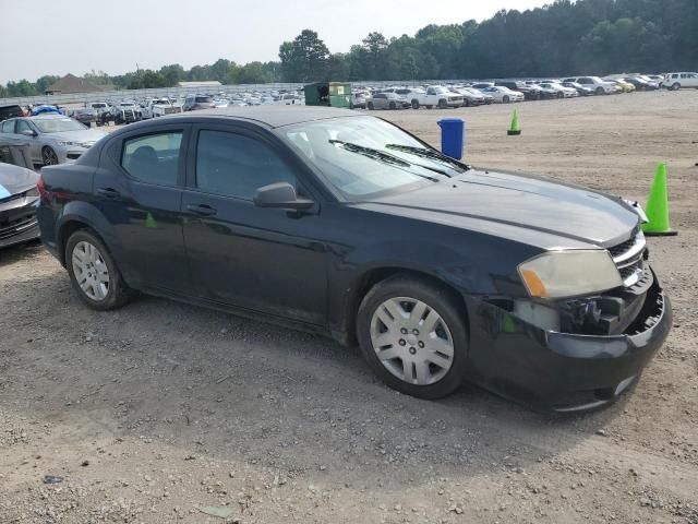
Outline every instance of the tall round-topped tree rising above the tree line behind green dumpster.
<svg viewBox="0 0 698 524"><path fill-rule="evenodd" d="M281 44L279 58L288 82L327 80L329 49L314 31L303 29L293 41Z"/></svg>

